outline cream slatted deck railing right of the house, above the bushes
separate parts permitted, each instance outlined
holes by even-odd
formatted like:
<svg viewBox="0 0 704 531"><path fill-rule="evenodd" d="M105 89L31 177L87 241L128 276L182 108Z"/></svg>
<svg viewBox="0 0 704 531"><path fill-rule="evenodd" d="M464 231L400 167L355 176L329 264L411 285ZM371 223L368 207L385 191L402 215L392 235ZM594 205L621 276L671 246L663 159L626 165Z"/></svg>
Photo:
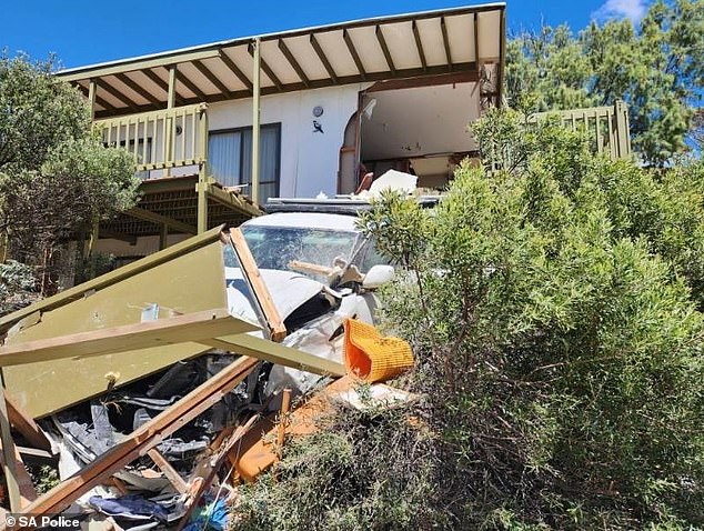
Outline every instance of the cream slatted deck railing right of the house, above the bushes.
<svg viewBox="0 0 704 531"><path fill-rule="evenodd" d="M611 107L536 112L529 117L529 121L539 121L554 114L560 116L562 124L573 131L577 128L584 128L590 134L596 152L605 152L612 159L631 156L628 109L623 101L617 100Z"/></svg>

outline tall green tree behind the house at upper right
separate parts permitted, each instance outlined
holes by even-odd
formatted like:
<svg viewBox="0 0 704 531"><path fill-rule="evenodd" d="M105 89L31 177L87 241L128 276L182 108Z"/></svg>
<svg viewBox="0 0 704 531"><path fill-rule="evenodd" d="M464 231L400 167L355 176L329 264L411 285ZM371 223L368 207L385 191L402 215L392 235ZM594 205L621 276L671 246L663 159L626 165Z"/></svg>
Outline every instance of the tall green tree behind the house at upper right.
<svg viewBox="0 0 704 531"><path fill-rule="evenodd" d="M686 148L704 91L704 2L655 2L630 20L592 22L574 36L543 27L509 42L506 96L527 111L628 106L633 147L662 166Z"/></svg>

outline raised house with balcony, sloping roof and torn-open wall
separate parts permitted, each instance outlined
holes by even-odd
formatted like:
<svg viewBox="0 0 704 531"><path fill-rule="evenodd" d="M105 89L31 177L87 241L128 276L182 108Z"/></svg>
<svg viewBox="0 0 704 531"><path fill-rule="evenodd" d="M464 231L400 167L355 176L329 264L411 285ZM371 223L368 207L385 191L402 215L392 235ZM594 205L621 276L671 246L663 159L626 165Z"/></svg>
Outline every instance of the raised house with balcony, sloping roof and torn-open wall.
<svg viewBox="0 0 704 531"><path fill-rule="evenodd" d="M350 193L390 168L442 187L475 150L467 123L501 101L504 53L494 3L63 70L143 179L95 248L143 256L258 216L269 197Z"/></svg>

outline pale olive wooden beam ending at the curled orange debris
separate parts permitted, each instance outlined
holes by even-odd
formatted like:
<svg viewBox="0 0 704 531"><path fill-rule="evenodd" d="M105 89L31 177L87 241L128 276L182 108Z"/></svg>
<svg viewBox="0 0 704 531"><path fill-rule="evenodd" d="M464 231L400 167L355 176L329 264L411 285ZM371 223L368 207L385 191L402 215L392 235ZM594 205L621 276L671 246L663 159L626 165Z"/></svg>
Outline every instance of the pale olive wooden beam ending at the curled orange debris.
<svg viewBox="0 0 704 531"><path fill-rule="evenodd" d="M281 343L274 343L262 338L240 333L237 335L222 335L214 339L205 339L199 343L222 349L242 355L251 355L264 361L271 361L280 365L291 367L313 374L341 377L345 374L344 364L321 358L302 350L292 349Z"/></svg>

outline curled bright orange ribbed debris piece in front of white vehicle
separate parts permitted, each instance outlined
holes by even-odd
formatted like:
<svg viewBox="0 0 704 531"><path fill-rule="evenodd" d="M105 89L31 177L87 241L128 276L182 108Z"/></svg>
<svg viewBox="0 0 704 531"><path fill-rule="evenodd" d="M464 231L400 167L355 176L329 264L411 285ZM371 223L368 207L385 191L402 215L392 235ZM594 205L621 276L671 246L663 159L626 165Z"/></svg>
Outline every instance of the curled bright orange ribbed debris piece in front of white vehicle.
<svg viewBox="0 0 704 531"><path fill-rule="evenodd" d="M384 338L371 324L348 319L344 323L344 364L349 373L370 382L389 380L413 367L408 341Z"/></svg>

